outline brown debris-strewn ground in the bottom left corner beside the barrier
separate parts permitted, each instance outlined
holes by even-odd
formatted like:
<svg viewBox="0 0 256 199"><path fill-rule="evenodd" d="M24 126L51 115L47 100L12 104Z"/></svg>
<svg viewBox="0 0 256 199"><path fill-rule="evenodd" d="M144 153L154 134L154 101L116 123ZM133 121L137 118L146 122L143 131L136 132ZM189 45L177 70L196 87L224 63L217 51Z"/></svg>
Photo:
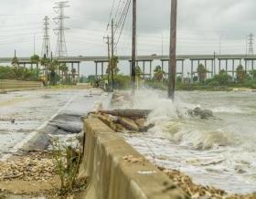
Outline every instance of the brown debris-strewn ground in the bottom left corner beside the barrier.
<svg viewBox="0 0 256 199"><path fill-rule="evenodd" d="M79 193L59 196L59 176L53 155L28 152L0 162L0 198L80 198Z"/></svg>

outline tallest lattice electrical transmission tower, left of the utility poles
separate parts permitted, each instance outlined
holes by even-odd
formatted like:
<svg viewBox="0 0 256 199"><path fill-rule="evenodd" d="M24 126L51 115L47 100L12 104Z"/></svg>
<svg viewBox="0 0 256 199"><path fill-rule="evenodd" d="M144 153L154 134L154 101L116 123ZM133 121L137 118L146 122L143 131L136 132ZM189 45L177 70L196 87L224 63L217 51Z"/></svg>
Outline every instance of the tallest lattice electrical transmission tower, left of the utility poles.
<svg viewBox="0 0 256 199"><path fill-rule="evenodd" d="M68 3L69 3L68 1L57 2L55 3L56 6L54 7L54 9L56 9L56 13L59 14L59 16L54 18L55 23L59 25L58 28L55 29L58 35L56 56L59 58L68 56L66 40L65 40L65 30L69 28L65 27L64 25L64 20L69 18L64 14L64 8L69 7Z"/></svg>

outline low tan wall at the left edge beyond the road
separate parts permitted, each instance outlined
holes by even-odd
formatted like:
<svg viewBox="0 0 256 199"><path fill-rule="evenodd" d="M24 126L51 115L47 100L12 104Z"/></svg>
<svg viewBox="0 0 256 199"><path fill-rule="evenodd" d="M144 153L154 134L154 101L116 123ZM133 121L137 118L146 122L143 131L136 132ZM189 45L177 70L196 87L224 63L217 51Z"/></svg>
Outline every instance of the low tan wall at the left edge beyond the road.
<svg viewBox="0 0 256 199"><path fill-rule="evenodd" d="M0 89L39 89L41 85L40 81L0 79Z"/></svg>

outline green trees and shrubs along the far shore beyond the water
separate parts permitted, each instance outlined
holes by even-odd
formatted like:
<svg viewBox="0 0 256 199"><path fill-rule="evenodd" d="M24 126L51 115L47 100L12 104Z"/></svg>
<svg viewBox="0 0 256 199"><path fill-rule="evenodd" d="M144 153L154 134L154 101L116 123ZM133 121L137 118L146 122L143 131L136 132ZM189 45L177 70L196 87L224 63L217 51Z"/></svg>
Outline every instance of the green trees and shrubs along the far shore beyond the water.
<svg viewBox="0 0 256 199"><path fill-rule="evenodd" d="M208 79L208 73L209 71L205 68L205 66L200 64L197 67L197 72L193 74L193 80L191 80L190 78L182 79L181 76L176 77L176 89L209 91L229 91L239 88L256 89L255 69L251 71L245 71L243 66L239 65L236 68L234 79L225 70L219 71L219 74L215 75L211 79ZM87 82L90 82L95 86L95 82L98 82L99 84L99 82L105 82L107 79L107 76L98 79L96 79L94 76L90 76L89 79L87 79ZM167 89L167 74L162 70L160 66L156 66L154 69L153 77L144 77L142 69L140 67L137 67L136 85L139 88L144 87L163 90ZM115 73L114 89L131 89L130 76Z"/></svg>

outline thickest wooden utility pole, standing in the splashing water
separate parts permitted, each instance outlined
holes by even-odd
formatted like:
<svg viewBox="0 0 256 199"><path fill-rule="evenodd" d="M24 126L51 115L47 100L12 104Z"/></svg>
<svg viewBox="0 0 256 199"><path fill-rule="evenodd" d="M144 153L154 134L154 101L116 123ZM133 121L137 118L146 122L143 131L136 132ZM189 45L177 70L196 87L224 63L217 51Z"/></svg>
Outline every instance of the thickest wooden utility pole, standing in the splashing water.
<svg viewBox="0 0 256 199"><path fill-rule="evenodd" d="M176 0L171 5L170 60L168 69L168 98L175 99L176 89Z"/></svg>

